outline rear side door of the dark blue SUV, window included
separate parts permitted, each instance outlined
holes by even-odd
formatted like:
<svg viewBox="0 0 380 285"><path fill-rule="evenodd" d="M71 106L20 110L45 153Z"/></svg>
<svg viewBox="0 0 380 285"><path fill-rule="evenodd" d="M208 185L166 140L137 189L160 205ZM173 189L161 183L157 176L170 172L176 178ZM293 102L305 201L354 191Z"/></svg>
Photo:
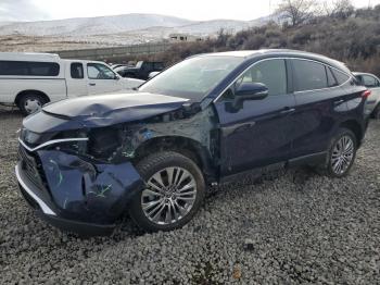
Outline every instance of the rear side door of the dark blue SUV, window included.
<svg viewBox="0 0 380 285"><path fill-rule="evenodd" d="M347 111L346 90L340 86L330 66L306 59L289 61L296 101L292 116L292 157L326 151L335 122Z"/></svg>

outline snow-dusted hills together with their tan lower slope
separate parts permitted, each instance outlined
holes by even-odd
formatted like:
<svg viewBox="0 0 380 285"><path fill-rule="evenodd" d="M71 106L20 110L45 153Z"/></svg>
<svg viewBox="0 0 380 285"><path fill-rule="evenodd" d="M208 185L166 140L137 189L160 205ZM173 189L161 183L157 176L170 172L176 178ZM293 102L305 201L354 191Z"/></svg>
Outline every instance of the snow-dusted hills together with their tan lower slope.
<svg viewBox="0 0 380 285"><path fill-rule="evenodd" d="M0 51L51 51L136 45L167 39L173 33L213 37L267 23L253 21L190 21L157 14L125 14L41 22L0 23Z"/></svg>

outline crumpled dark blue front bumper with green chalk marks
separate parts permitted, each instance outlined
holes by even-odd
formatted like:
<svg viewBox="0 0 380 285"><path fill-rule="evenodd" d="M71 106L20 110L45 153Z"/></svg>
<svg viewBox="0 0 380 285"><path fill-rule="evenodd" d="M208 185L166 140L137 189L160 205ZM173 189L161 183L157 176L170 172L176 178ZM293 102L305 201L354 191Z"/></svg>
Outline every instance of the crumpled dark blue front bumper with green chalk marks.
<svg viewBox="0 0 380 285"><path fill-rule="evenodd" d="M110 234L143 182L130 162L87 161L59 150L20 147L21 193L39 216L81 235Z"/></svg>

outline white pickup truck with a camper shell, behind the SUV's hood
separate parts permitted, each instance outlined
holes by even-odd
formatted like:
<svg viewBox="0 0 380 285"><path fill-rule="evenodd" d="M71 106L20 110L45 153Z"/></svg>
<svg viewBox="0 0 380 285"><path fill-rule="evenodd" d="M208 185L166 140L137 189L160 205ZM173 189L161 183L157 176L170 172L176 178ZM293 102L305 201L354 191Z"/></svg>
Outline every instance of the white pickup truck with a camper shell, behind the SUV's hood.
<svg viewBox="0 0 380 285"><path fill-rule="evenodd" d="M68 97L132 89L143 80L123 78L103 62L63 60L51 53L0 52L0 103L30 114Z"/></svg>

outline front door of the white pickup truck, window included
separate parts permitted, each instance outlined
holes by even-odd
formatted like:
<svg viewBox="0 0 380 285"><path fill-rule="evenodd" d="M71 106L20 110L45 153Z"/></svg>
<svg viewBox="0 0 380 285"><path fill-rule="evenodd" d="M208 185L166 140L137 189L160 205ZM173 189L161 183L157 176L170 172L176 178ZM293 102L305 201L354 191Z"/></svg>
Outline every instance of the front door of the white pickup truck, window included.
<svg viewBox="0 0 380 285"><path fill-rule="evenodd" d="M105 64L87 63L88 90L90 95L113 92L123 89L121 78Z"/></svg>

